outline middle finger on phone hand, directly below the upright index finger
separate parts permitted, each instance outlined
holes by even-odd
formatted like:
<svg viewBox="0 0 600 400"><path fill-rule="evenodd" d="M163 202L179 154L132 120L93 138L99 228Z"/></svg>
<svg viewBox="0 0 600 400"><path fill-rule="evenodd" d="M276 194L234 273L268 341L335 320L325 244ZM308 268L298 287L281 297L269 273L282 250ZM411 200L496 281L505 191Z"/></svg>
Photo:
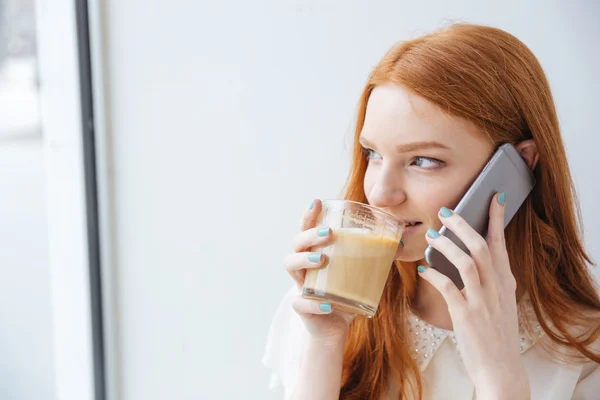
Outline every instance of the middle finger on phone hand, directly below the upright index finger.
<svg viewBox="0 0 600 400"><path fill-rule="evenodd" d="M440 209L439 218L446 228L450 229L469 249L479 273L480 284L483 286L493 284L496 279L490 249L485 239L463 217L446 207Z"/></svg>

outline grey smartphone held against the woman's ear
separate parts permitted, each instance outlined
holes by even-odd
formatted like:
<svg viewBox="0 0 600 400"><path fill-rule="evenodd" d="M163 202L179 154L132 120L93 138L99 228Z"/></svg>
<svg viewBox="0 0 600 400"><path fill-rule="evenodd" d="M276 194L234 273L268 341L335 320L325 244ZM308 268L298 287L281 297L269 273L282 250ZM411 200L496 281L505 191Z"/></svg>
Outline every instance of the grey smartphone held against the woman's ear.
<svg viewBox="0 0 600 400"><path fill-rule="evenodd" d="M519 152L511 144L503 144L479 173L479 176L460 200L454 212L460 215L481 236L487 237L489 209L492 198L498 192L506 193L504 227L519 210L529 193L535 186L535 177L521 158ZM446 236L469 254L464 243L445 226L440 235ZM456 284L459 290L464 288L458 269L439 251L427 247L425 261L446 275Z"/></svg>

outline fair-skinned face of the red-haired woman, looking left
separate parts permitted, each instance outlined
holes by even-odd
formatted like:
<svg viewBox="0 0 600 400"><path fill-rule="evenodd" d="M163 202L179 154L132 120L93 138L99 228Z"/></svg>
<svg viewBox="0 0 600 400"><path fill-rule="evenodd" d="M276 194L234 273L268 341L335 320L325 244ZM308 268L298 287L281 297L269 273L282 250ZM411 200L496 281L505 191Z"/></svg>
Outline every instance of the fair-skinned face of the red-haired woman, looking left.
<svg viewBox="0 0 600 400"><path fill-rule="evenodd" d="M414 224L402 236L401 261L423 259L427 229L442 226L440 208L458 204L494 150L472 123L395 85L371 93L360 143L369 204Z"/></svg>

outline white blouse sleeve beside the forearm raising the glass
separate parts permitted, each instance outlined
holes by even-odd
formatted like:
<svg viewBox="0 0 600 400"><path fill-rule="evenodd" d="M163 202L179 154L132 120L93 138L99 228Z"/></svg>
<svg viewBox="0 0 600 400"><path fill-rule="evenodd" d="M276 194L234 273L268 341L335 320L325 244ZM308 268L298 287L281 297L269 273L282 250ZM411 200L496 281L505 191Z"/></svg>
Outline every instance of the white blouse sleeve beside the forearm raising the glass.
<svg viewBox="0 0 600 400"><path fill-rule="evenodd" d="M262 363L271 370L271 388L291 391L300 370L308 331L292 309L292 301L299 294L295 286L284 294L269 327Z"/></svg>

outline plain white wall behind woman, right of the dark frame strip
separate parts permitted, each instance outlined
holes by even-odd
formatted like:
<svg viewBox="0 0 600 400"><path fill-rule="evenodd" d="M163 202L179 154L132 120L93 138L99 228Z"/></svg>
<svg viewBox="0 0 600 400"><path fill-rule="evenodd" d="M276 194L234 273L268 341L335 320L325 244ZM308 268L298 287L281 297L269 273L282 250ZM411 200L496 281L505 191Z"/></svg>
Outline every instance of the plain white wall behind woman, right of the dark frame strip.
<svg viewBox="0 0 600 400"><path fill-rule="evenodd" d="M600 258L591 1L104 4L123 399L267 398L260 358L301 213L342 187L370 69L447 19L538 55Z"/></svg>

